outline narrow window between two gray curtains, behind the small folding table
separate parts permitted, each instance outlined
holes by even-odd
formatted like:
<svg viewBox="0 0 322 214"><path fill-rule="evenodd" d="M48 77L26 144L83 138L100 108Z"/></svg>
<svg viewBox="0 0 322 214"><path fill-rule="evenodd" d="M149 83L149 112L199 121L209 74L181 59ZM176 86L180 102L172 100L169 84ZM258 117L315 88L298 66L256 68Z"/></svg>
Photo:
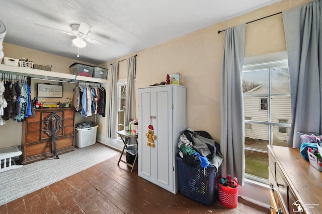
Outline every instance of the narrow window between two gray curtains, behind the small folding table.
<svg viewBox="0 0 322 214"><path fill-rule="evenodd" d="M117 130L124 130L125 124L125 111L126 111L126 82L119 81L117 84Z"/></svg>

